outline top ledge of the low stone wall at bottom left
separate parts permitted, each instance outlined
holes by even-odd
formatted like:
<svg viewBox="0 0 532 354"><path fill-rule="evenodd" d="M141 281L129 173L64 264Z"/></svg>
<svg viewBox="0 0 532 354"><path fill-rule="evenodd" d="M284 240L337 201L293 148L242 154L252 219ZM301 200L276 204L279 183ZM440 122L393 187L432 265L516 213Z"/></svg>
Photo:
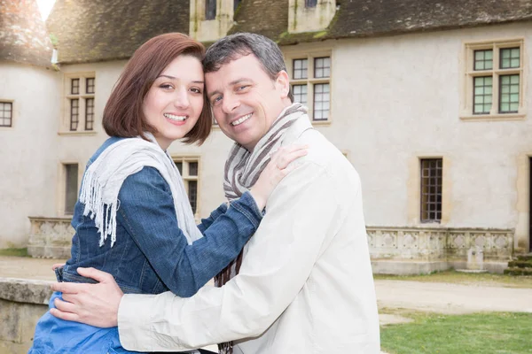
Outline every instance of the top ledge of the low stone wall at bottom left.
<svg viewBox="0 0 532 354"><path fill-rule="evenodd" d="M0 299L26 304L48 304L53 281L0 277Z"/></svg>

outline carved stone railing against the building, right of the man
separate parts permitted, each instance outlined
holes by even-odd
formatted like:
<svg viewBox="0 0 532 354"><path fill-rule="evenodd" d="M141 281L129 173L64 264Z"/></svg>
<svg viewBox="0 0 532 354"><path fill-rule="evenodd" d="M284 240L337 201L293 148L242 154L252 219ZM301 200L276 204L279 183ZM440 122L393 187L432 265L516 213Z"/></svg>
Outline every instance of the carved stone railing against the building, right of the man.
<svg viewBox="0 0 532 354"><path fill-rule="evenodd" d="M450 267L485 268L500 273L512 258L512 229L366 227L366 230L376 273L427 273Z"/></svg>

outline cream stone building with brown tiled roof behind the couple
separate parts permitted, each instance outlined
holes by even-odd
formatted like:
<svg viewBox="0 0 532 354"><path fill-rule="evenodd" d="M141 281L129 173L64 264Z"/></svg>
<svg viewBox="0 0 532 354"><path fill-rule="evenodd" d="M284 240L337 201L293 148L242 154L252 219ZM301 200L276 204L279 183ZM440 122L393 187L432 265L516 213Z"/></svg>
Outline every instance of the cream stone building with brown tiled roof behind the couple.
<svg viewBox="0 0 532 354"><path fill-rule="evenodd" d="M0 22L0 36L12 38L24 21L15 4L31 2L4 3L2 18L20 25ZM42 29L48 51L8 39L20 54L0 56L0 108L12 107L0 127L0 246L68 250L106 99L139 45L255 32L278 42L296 100L360 173L375 272L500 272L532 246L531 20L522 0L58 0L46 21L57 71L28 61L28 50L51 57ZM198 217L223 201L231 142L213 130L202 146L169 149Z"/></svg>

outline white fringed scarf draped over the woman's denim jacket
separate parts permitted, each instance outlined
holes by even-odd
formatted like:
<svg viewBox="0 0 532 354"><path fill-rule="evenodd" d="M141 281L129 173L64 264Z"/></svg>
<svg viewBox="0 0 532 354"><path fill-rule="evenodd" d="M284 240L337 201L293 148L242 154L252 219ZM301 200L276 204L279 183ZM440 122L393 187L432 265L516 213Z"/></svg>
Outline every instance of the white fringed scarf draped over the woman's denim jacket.
<svg viewBox="0 0 532 354"><path fill-rule="evenodd" d="M100 234L100 247L111 235L111 247L116 242L116 212L120 207L118 193L125 179L145 166L156 168L167 181L176 209L176 218L188 244L202 237L196 226L192 207L176 164L163 151L150 133L144 139L129 138L114 142L89 166L82 181L80 202L83 215L95 220ZM105 212L106 211L106 212Z"/></svg>

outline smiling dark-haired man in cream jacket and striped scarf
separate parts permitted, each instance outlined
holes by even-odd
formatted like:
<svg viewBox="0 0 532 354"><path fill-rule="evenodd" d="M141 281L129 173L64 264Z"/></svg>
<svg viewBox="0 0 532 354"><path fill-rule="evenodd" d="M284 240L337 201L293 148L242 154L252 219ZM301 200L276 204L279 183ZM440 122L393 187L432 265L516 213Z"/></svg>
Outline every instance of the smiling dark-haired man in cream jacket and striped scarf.
<svg viewBox="0 0 532 354"><path fill-rule="evenodd" d="M230 35L204 59L207 96L223 133L237 142L225 168L226 196L239 196L279 146L309 154L270 196L266 214L221 288L190 298L122 295L99 284L57 283L67 293L52 313L119 327L128 350L189 350L229 342L224 353L379 353L379 319L360 180L331 142L293 104L278 46L261 35ZM251 184L250 184L251 183ZM228 276L229 275L229 276ZM69 294L69 293L74 293ZM231 341L233 341L231 343Z"/></svg>

